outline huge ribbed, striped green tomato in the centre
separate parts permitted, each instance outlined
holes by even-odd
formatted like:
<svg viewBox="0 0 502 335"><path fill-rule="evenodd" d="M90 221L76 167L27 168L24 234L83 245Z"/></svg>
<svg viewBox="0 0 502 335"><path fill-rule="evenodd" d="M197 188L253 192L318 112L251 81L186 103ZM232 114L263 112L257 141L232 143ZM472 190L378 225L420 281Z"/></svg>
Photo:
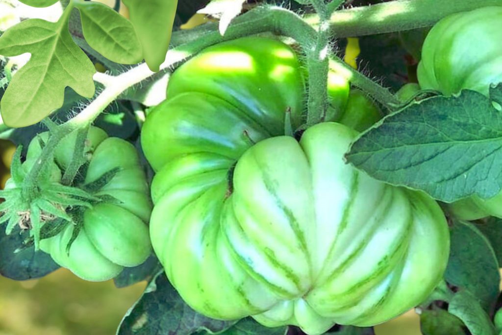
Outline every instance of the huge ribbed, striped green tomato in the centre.
<svg viewBox="0 0 502 335"><path fill-rule="evenodd" d="M449 234L439 206L345 164L357 134L345 125L315 125L300 142L284 136L285 112L298 125L304 99L294 52L246 38L186 62L147 117L152 245L205 315L320 334L395 317L442 277Z"/></svg>

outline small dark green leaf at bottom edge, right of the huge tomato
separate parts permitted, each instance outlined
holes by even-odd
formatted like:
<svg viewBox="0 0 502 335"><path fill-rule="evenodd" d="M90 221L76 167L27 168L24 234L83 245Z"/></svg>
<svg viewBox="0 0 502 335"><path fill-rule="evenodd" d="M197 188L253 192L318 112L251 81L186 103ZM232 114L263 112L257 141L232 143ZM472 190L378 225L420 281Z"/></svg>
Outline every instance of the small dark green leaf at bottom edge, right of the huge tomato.
<svg viewBox="0 0 502 335"><path fill-rule="evenodd" d="M420 314L423 335L465 335L464 323L444 309L425 309Z"/></svg>

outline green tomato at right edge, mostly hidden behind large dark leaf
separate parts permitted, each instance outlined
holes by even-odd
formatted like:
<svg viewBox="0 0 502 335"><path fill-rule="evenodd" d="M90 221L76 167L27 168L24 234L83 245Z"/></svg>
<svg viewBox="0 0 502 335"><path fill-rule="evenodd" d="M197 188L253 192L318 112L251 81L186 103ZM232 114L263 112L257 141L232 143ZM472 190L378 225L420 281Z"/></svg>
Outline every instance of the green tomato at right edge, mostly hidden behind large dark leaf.
<svg viewBox="0 0 502 335"><path fill-rule="evenodd" d="M470 89L488 95L502 82L502 7L484 7L451 15L427 35L418 67L422 89L445 95ZM491 199L469 197L449 205L464 220L502 218L502 192Z"/></svg>

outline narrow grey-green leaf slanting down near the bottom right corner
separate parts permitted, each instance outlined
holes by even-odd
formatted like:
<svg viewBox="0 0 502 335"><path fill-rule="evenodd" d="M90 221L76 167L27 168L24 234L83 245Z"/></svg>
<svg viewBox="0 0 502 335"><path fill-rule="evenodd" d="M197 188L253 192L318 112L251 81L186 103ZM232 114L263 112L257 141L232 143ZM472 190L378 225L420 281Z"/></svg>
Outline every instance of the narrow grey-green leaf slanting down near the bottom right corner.
<svg viewBox="0 0 502 335"><path fill-rule="evenodd" d="M495 335L490 318L468 291L457 292L450 301L448 311L461 319L472 335Z"/></svg>

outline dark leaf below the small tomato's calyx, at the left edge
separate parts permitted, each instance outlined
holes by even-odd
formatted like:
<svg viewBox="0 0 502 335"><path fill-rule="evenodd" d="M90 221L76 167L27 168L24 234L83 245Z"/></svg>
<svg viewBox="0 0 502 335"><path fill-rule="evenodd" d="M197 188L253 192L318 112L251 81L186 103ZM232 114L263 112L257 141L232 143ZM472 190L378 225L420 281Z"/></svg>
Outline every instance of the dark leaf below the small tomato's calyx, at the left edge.
<svg viewBox="0 0 502 335"><path fill-rule="evenodd" d="M0 274L14 280L27 280L43 277L59 268L51 256L43 251L35 252L35 247L23 247L29 237L26 231L20 234L17 228L11 235L0 229ZM15 253L15 250L20 249Z"/></svg>

